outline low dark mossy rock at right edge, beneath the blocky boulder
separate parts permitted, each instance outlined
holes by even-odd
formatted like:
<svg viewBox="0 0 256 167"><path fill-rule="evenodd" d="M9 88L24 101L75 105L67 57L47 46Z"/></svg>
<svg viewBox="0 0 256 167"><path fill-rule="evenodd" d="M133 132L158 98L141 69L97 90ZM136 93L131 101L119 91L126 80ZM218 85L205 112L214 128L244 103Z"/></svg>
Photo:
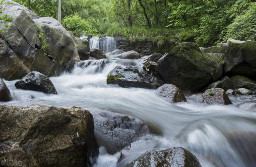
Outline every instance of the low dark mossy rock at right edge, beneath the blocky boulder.
<svg viewBox="0 0 256 167"><path fill-rule="evenodd" d="M230 78L233 89L256 89L256 82L244 76L232 76Z"/></svg>

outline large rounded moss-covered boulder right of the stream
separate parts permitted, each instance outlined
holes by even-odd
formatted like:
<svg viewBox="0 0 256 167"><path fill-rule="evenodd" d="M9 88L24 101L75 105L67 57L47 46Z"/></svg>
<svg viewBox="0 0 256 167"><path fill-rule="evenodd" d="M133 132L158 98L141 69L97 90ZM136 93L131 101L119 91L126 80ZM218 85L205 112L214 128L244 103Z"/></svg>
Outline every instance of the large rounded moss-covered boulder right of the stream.
<svg viewBox="0 0 256 167"><path fill-rule="evenodd" d="M158 60L156 71L165 82L182 90L198 91L222 77L225 58L209 56L193 42L184 42Z"/></svg>

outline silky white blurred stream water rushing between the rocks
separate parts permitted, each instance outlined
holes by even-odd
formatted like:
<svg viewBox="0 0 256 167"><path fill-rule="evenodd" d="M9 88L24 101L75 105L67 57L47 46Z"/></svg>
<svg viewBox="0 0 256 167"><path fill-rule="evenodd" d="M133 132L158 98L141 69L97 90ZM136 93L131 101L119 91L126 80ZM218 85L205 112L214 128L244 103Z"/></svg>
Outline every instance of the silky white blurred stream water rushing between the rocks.
<svg viewBox="0 0 256 167"><path fill-rule="evenodd" d="M142 120L154 134L146 135L124 151L123 166L154 148L184 147L202 167L256 167L256 113L236 107L243 98L231 96L233 105L206 105L201 94L185 92L183 103L170 103L153 89L107 85L106 77L116 66L142 66L141 60L86 60L71 73L51 77L58 95L16 89L5 81L13 100L8 105L74 105L91 113L108 110ZM115 167L120 153L109 155L100 148L95 167Z"/></svg>

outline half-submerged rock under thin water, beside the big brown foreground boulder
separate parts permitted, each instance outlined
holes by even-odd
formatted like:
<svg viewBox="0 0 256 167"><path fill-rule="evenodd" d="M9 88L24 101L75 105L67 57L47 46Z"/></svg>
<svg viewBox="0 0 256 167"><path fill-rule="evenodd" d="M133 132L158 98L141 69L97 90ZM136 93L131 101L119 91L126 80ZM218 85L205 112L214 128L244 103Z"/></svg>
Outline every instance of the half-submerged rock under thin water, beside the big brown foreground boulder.
<svg viewBox="0 0 256 167"><path fill-rule="evenodd" d="M149 133L148 127L141 121L110 112L94 113L94 128L99 145L111 154Z"/></svg>

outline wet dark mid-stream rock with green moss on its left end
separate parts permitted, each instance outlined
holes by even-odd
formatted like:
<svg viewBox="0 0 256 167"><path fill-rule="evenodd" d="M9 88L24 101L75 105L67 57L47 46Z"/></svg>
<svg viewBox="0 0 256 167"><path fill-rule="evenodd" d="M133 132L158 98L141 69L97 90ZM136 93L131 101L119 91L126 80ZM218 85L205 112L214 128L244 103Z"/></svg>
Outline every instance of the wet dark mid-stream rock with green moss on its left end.
<svg viewBox="0 0 256 167"><path fill-rule="evenodd" d="M163 85L163 81L151 76L141 67L129 66L122 68L117 66L107 77L108 84L118 84L120 87L142 87L156 89Z"/></svg>

